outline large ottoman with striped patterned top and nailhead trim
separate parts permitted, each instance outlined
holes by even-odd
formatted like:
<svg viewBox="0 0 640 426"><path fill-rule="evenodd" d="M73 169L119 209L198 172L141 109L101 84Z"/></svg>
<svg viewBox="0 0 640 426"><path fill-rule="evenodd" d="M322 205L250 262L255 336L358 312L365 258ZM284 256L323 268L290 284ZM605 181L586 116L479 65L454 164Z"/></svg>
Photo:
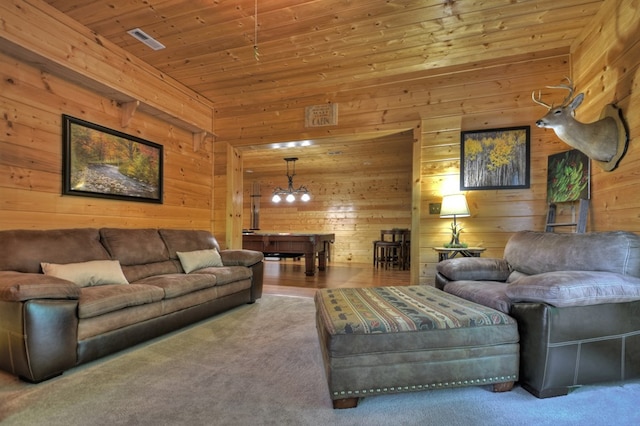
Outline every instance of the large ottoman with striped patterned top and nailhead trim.
<svg viewBox="0 0 640 426"><path fill-rule="evenodd" d="M334 408L364 396L518 379L516 322L429 286L318 290L316 325Z"/></svg>

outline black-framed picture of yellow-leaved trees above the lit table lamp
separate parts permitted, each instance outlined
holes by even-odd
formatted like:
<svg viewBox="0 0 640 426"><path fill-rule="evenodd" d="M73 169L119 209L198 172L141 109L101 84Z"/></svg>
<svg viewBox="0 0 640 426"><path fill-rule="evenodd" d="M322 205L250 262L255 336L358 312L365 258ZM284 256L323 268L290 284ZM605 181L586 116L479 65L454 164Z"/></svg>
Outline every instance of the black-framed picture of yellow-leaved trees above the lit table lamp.
<svg viewBox="0 0 640 426"><path fill-rule="evenodd" d="M460 133L460 190L531 185L530 126Z"/></svg>

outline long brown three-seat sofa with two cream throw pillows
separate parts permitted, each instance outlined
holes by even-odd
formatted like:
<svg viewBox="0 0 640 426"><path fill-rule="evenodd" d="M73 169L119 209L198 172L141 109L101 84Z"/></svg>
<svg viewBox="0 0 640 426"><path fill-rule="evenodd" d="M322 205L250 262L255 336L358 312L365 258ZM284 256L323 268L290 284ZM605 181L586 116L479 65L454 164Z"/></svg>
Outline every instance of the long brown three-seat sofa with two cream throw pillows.
<svg viewBox="0 0 640 426"><path fill-rule="evenodd" d="M0 368L40 382L253 303L262 261L200 230L0 231Z"/></svg>

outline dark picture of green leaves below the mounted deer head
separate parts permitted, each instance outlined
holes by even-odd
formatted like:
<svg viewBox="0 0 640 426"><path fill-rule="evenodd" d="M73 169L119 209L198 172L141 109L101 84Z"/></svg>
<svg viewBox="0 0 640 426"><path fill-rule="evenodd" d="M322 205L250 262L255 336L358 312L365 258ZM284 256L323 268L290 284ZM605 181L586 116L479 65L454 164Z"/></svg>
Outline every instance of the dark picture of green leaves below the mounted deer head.
<svg viewBox="0 0 640 426"><path fill-rule="evenodd" d="M578 151L552 154L547 160L547 202L564 203L591 198L591 161Z"/></svg>

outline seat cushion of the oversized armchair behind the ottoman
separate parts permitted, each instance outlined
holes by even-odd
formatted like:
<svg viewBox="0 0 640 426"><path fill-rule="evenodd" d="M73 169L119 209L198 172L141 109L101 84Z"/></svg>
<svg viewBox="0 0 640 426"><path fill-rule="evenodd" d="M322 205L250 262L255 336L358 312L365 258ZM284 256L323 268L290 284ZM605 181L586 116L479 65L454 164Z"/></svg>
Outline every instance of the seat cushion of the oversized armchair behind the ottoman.
<svg viewBox="0 0 640 426"><path fill-rule="evenodd" d="M451 281L444 291L508 314L511 299L506 294L507 287L508 284L497 281Z"/></svg>

